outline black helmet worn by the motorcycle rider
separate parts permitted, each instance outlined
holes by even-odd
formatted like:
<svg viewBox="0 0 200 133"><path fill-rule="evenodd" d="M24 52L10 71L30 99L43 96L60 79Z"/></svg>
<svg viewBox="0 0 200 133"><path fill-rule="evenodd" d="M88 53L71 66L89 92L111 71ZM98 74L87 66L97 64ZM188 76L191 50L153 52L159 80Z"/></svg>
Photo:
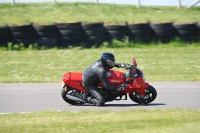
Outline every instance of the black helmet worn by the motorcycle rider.
<svg viewBox="0 0 200 133"><path fill-rule="evenodd" d="M112 53L104 52L101 55L101 62L105 68L111 69L115 66L115 56Z"/></svg>

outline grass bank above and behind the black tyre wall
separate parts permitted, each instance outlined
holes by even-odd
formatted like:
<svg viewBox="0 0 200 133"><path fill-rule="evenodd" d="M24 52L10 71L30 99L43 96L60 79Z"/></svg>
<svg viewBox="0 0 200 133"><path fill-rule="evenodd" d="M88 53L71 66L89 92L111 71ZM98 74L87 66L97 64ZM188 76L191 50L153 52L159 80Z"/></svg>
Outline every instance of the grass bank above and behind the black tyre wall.
<svg viewBox="0 0 200 133"><path fill-rule="evenodd" d="M138 9L135 5L95 3L17 3L0 4L0 25L21 25L33 22L35 25L54 22L99 22L124 24L150 21L175 23L200 23L200 7L177 9L177 7L149 7Z"/></svg>

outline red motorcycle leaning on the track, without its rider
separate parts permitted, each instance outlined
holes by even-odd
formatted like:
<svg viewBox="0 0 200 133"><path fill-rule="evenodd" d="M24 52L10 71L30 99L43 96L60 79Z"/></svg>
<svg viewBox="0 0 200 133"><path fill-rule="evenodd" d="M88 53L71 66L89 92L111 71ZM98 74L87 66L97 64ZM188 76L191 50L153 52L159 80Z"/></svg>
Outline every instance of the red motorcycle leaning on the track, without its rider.
<svg viewBox="0 0 200 133"><path fill-rule="evenodd" d="M100 82L98 88L101 94L106 99L106 102L113 100L127 100L129 98L138 104L148 104L154 101L157 97L156 89L145 82L143 72L137 68L137 62L133 58L133 64L123 64L127 72L108 70L106 72L108 81L114 85L121 85L126 83L125 90L110 91L103 87ZM62 98L65 102L71 105L83 105L88 103L82 97L87 95L91 97L88 90L82 86L82 72L67 72L62 78ZM124 98L124 99L123 99Z"/></svg>

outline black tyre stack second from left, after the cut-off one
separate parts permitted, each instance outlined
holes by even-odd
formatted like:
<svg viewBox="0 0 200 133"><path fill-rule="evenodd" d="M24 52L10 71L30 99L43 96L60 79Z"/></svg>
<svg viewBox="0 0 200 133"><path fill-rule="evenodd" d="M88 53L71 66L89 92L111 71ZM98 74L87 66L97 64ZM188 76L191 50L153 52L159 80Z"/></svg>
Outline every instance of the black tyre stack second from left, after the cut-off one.
<svg viewBox="0 0 200 133"><path fill-rule="evenodd" d="M22 25L22 26L8 26L10 32L10 39L13 44L24 44L28 47L33 42L33 25Z"/></svg>

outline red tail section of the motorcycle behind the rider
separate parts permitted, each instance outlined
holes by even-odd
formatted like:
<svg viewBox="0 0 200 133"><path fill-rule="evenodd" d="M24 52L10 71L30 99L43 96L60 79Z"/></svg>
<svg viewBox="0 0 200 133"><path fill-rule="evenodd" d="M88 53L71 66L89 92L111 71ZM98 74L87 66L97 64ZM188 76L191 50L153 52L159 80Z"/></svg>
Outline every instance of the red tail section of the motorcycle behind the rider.
<svg viewBox="0 0 200 133"><path fill-rule="evenodd" d="M73 88L87 92L87 90L82 86L82 73L81 72L67 72L63 76L63 82Z"/></svg>

